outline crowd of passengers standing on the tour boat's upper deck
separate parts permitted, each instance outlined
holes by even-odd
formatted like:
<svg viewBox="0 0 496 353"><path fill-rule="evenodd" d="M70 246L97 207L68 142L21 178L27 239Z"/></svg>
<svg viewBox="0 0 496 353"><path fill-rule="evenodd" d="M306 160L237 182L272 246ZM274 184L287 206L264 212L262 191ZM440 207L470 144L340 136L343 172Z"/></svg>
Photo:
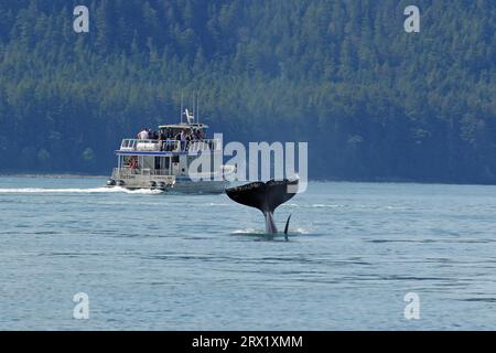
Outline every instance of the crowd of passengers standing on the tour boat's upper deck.
<svg viewBox="0 0 496 353"><path fill-rule="evenodd" d="M151 131L148 128L144 128L140 132L138 132L137 137L139 140L163 141L160 143L161 151L175 150L176 147L175 141L180 141L181 151L185 151L186 147L188 147L191 142L203 140L203 132L201 129L193 130L192 128L188 128L188 129L181 129L181 131L174 135L174 131L172 129L160 130L160 132L157 132Z"/></svg>

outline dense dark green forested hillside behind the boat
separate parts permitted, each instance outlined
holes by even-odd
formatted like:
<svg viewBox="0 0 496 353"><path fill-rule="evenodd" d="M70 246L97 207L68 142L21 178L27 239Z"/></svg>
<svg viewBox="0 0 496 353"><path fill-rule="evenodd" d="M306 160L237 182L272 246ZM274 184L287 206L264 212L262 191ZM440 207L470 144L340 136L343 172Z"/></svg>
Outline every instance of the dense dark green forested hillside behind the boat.
<svg viewBox="0 0 496 353"><path fill-rule="evenodd" d="M108 173L181 93L226 140L309 141L317 179L496 182L496 6L0 1L0 172ZM73 10L89 9L89 33Z"/></svg>

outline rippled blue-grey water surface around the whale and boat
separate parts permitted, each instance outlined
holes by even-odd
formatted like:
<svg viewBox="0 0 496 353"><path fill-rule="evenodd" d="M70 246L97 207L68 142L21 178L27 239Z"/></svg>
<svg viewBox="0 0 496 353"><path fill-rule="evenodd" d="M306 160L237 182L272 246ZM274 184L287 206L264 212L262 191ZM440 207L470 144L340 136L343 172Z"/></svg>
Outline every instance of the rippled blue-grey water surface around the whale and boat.
<svg viewBox="0 0 496 353"><path fill-rule="evenodd" d="M311 183L284 242L226 195L104 184L0 178L0 329L495 329L496 186Z"/></svg>

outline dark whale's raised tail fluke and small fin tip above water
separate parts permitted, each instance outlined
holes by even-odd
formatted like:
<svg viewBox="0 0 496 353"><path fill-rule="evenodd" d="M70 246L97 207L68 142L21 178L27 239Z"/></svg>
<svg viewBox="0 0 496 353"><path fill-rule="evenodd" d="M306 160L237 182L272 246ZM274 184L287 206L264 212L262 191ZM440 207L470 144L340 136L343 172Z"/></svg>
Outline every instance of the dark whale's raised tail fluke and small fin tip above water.
<svg viewBox="0 0 496 353"><path fill-rule="evenodd" d="M266 217L266 233L276 234L278 228L273 221L273 211L294 196L298 190L298 180L269 180L268 182L252 182L241 186L226 189L229 199L260 210ZM288 233L289 218L285 226Z"/></svg>

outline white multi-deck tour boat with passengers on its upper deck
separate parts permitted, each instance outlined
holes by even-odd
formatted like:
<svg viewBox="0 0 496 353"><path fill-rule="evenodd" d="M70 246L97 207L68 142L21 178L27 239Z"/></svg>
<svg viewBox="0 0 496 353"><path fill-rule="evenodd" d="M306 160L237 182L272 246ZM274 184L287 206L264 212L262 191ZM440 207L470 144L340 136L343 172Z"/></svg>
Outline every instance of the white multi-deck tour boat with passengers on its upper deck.
<svg viewBox="0 0 496 353"><path fill-rule="evenodd" d="M235 173L234 165L220 163L216 170L212 167L194 174L190 171L198 153L211 153L212 161L215 158L222 161L222 141L205 138L208 126L195 121L187 109L181 118L186 122L160 126L154 136L147 136L149 132L143 130L136 139L123 139L116 151L117 168L107 186L223 193L229 186L229 175Z"/></svg>

